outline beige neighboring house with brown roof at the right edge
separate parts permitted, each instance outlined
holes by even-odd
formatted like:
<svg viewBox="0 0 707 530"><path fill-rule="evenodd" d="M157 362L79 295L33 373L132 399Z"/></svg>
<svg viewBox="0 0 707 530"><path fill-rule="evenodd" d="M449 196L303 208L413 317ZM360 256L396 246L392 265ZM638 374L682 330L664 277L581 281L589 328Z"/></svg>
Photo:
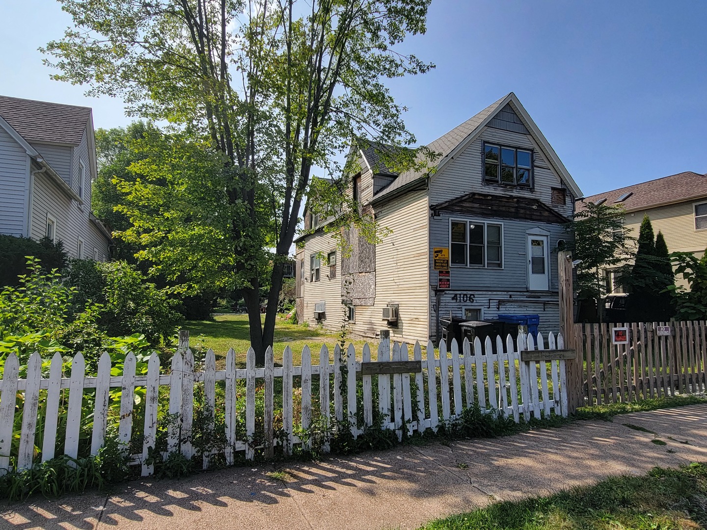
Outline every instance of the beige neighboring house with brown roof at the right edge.
<svg viewBox="0 0 707 530"><path fill-rule="evenodd" d="M638 237L643 216L650 218L653 232L662 232L669 252L702 254L707 247L707 174L692 171L614 189L577 201L621 204L626 208L624 227ZM613 271L607 271L610 293L621 293ZM679 283L682 278L676 278Z"/></svg>

